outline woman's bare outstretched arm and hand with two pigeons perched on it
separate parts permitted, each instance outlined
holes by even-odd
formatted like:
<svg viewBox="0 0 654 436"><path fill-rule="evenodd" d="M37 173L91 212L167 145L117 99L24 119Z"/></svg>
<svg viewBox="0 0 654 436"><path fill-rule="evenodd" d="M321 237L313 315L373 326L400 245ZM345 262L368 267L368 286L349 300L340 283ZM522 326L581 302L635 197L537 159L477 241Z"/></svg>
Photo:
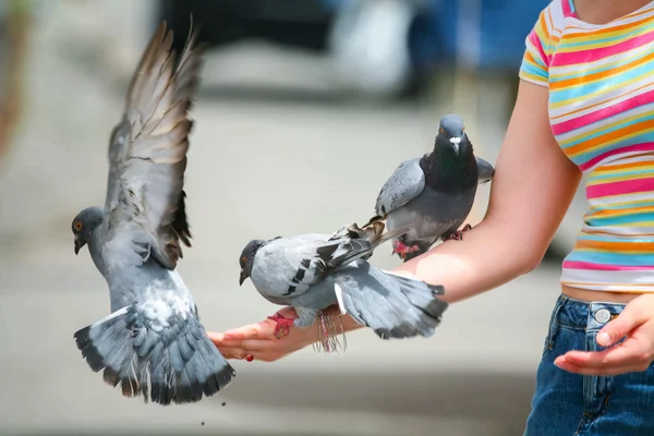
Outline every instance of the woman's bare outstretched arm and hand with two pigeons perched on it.
<svg viewBox="0 0 654 436"><path fill-rule="evenodd" d="M453 303L538 265L581 179L553 136L547 99L547 87L520 81L483 221L465 232L462 241L445 242L395 271L443 284L444 300ZM294 315L289 307L280 313ZM350 316L342 319L346 331L362 328ZM274 322L264 320L209 336L228 358L239 359L247 349L264 361L280 359L318 339L315 325L291 328L282 340L274 338Z"/></svg>

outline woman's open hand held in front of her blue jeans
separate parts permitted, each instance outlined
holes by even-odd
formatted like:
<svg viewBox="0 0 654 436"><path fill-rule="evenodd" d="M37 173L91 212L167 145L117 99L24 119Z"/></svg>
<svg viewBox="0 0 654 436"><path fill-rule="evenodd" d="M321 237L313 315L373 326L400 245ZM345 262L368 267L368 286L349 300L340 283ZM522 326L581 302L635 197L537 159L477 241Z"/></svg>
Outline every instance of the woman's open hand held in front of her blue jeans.
<svg viewBox="0 0 654 436"><path fill-rule="evenodd" d="M654 361L654 295L632 300L622 313L597 334L597 343L610 347L603 351L568 351L554 363L570 373L617 375L642 372Z"/></svg>

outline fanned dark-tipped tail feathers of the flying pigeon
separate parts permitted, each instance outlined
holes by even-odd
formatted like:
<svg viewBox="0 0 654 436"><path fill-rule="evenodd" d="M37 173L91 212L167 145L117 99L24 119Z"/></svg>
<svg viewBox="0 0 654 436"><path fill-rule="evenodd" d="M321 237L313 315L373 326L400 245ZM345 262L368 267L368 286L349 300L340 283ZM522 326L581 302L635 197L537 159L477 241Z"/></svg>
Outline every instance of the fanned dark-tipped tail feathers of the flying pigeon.
<svg viewBox="0 0 654 436"><path fill-rule="evenodd" d="M149 306L148 306L149 304ZM125 397L161 405L199 401L223 390L234 370L191 313L162 322L147 316L152 303L123 307L75 332L82 355Z"/></svg>

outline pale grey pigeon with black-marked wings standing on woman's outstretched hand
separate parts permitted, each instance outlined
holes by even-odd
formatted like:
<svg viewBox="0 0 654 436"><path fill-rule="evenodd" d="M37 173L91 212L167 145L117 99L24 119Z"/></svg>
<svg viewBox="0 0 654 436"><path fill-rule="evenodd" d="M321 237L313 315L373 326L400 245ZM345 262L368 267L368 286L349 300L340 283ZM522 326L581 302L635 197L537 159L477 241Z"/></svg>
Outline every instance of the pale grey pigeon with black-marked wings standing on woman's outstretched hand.
<svg viewBox="0 0 654 436"><path fill-rule="evenodd" d="M252 240L239 259L240 284L251 278L268 301L292 305L296 319L270 316L277 337L289 326L312 325L319 312L338 303L341 314L371 327L383 339L428 337L447 303L440 286L399 276L366 262L380 243L409 228L383 233L384 223L367 229L350 225L335 234L302 234Z"/></svg>

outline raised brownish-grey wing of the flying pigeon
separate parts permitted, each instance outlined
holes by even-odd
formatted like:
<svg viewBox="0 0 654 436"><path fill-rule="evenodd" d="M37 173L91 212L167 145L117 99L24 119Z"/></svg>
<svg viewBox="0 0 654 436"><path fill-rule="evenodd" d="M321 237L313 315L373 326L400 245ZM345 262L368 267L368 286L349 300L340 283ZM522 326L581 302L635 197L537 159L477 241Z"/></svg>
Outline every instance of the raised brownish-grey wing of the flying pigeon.
<svg viewBox="0 0 654 436"><path fill-rule="evenodd" d="M172 32L160 24L134 73L109 145L105 250L134 262L152 254L169 269L182 257L180 241L191 246L183 184L193 125L189 110L202 60L195 39L192 26L173 65Z"/></svg>

